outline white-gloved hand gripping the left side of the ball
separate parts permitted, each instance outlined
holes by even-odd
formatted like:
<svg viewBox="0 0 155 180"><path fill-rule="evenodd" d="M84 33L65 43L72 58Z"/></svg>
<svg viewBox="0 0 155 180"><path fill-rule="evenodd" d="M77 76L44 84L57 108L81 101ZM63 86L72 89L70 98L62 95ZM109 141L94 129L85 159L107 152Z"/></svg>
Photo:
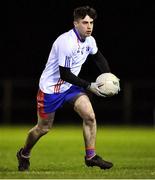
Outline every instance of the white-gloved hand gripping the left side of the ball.
<svg viewBox="0 0 155 180"><path fill-rule="evenodd" d="M87 88L92 93L96 94L97 96L106 97L104 94L100 92L99 86L103 85L102 83L92 82L90 86Z"/></svg>

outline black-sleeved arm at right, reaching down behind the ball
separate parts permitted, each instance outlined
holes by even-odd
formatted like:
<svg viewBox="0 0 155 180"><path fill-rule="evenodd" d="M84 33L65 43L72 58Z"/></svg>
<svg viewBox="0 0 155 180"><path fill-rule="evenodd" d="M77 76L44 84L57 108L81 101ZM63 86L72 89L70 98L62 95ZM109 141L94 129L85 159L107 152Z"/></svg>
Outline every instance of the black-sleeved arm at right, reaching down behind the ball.
<svg viewBox="0 0 155 180"><path fill-rule="evenodd" d="M101 73L110 72L108 61L99 50L97 51L96 54L92 55L92 57Z"/></svg>

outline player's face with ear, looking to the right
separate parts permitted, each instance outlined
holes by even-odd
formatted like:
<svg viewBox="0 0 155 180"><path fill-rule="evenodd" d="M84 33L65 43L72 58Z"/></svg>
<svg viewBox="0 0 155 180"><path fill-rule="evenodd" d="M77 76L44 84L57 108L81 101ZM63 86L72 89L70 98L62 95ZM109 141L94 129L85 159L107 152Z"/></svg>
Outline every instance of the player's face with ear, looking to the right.
<svg viewBox="0 0 155 180"><path fill-rule="evenodd" d="M84 19L74 21L74 26L78 30L79 35L82 39L91 36L93 31L94 20L88 15Z"/></svg>

